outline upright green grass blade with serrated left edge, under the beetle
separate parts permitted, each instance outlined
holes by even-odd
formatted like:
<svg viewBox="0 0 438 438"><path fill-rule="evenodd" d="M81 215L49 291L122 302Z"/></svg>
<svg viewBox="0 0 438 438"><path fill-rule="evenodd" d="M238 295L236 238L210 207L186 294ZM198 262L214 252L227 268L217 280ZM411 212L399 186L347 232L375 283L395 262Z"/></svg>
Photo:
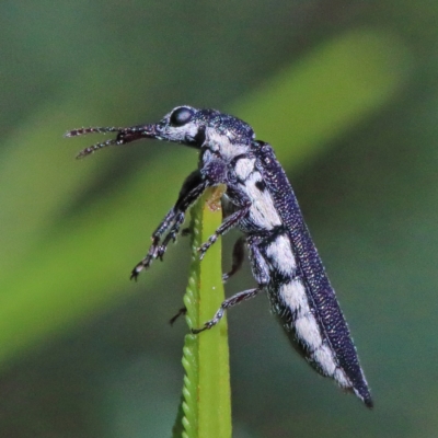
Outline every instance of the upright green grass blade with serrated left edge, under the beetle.
<svg viewBox="0 0 438 438"><path fill-rule="evenodd" d="M207 201L208 191L193 208L193 245L191 275L184 303L188 326L199 327L210 320L224 299L220 239L199 262L197 249L221 222L220 209ZM183 366L186 438L231 437L230 368L226 316L218 325L199 335L186 335Z"/></svg>

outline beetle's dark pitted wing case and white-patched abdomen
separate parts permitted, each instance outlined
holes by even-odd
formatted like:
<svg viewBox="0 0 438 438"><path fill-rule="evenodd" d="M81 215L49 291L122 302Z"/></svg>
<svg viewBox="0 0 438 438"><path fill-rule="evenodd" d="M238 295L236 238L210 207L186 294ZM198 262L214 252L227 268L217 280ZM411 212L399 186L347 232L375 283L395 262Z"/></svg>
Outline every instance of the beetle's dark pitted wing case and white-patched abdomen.
<svg viewBox="0 0 438 438"><path fill-rule="evenodd" d="M292 187L270 146L258 145L260 172L281 218L296 265L292 278L284 283L275 281L277 268L272 273L274 280L268 291L274 311L316 369L333 377L341 387L350 388L372 406L347 323L303 222Z"/></svg>

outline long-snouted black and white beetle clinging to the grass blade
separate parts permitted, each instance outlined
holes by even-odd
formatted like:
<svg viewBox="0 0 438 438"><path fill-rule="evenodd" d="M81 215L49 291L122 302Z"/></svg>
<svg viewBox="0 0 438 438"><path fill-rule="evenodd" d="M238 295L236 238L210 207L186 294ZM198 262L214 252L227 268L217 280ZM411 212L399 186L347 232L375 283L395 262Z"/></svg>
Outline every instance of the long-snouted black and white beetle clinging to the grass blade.
<svg viewBox="0 0 438 438"><path fill-rule="evenodd" d="M185 180L176 204L152 234L152 245L132 269L131 278L162 258L184 222L187 208L207 187L224 184L226 218L200 249L200 257L219 235L233 227L244 234L234 245L234 274L250 253L257 287L223 301L215 316L198 333L211 328L226 309L266 291L273 312L293 346L323 376L351 390L372 406L367 381L360 368L349 331L316 249L303 221L297 198L278 163L273 148L260 140L251 126L215 110L177 106L151 125L129 128L82 128L66 137L90 132L117 132L111 139L84 149L78 158L111 145L126 145L142 138L174 141L199 150L198 169ZM164 239L162 235L168 232Z"/></svg>

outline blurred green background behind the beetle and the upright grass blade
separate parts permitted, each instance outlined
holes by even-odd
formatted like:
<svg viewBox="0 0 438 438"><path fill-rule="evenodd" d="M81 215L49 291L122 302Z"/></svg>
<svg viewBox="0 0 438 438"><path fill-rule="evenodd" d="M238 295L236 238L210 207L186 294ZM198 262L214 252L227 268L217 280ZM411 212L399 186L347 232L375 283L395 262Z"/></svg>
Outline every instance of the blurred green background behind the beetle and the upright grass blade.
<svg viewBox="0 0 438 438"><path fill-rule="evenodd" d="M376 402L314 373L258 297L229 313L234 437L438 436L437 23L426 0L2 1L0 436L170 436L188 243L128 276L196 152L78 162L102 137L61 136L181 104L276 149ZM250 285L245 264L227 290Z"/></svg>

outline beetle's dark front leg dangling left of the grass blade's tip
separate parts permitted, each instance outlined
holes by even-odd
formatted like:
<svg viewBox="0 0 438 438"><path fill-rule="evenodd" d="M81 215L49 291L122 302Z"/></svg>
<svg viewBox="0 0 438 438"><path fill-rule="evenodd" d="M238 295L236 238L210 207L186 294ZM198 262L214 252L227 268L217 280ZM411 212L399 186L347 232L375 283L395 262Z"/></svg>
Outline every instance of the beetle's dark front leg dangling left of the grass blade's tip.
<svg viewBox="0 0 438 438"><path fill-rule="evenodd" d="M137 278L141 270L148 268L157 257L162 258L166 246L171 240L175 240L180 228L185 219L185 211L204 193L207 182L203 178L199 171L195 171L185 180L180 191L175 206L168 212L164 220L152 234L152 245L147 255L139 262L131 272L130 278ZM169 233L160 245L161 235L169 229Z"/></svg>

